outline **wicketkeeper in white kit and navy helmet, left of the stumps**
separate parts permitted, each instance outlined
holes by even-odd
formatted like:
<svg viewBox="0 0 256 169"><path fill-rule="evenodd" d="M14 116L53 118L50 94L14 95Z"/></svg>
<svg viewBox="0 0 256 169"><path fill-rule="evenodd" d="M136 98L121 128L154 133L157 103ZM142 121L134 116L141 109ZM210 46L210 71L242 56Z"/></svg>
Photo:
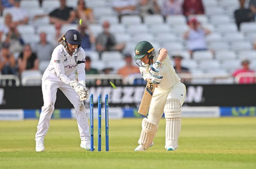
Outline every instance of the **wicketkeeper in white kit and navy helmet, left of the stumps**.
<svg viewBox="0 0 256 169"><path fill-rule="evenodd" d="M52 54L42 77L44 106L40 114L36 132L36 151L44 151L44 138L53 114L58 88L66 95L76 110L81 147L90 150L89 125L83 101L89 96L85 85L85 53L81 46L81 36L77 30L68 30ZM77 69L78 81L73 71Z"/></svg>

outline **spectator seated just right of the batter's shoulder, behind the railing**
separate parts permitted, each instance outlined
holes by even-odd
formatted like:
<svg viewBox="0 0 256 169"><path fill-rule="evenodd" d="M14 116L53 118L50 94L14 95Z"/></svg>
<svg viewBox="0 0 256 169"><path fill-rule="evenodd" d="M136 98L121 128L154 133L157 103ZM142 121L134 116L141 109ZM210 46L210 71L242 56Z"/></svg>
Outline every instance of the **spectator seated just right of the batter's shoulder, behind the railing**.
<svg viewBox="0 0 256 169"><path fill-rule="evenodd" d="M190 74L189 69L186 67L183 67L181 65L181 61L183 60L183 57L181 55L174 55L173 56L173 61L174 61L174 66L173 68L175 69L175 72L177 74ZM190 79L181 79L181 82L183 83L189 83Z"/></svg>

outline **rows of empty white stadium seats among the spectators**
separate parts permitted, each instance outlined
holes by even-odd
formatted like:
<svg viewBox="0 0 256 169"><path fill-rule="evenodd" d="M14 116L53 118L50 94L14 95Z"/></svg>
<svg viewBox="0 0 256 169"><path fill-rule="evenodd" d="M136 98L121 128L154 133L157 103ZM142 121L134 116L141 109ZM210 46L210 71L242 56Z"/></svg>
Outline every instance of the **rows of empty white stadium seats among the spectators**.
<svg viewBox="0 0 256 169"><path fill-rule="evenodd" d="M67 6L77 8L78 0L67 0ZM159 6L163 0L158 1ZM248 0L247 0L248 3ZM155 49L164 47L168 50L168 55L172 59L173 55L182 55L184 60L182 65L190 68L192 73L232 73L240 67L240 59L251 60L251 68L256 70L256 52L252 43L256 40L256 23L244 22L240 25L240 31L234 22L234 10L239 8L238 0L203 0L205 14L192 15L196 17L203 27L211 30L211 34L206 36L208 49L212 51L194 52L192 58L186 48L186 40L183 35L189 30L186 17L184 15L167 16L166 19L160 15L146 15L143 19L139 15L122 16L119 18L107 0L86 0L86 5L93 9L95 24L89 24L95 37L103 31L102 23L110 23L110 32L114 33L118 43L125 42L123 52L134 55L134 46L142 40L150 41ZM17 28L25 43L33 44L39 42L39 33L47 33L47 40L55 39L56 29L50 24L49 16L33 20L35 15L48 14L60 6L59 0L43 0L42 7L37 0L22 0L21 8L28 11L28 25L19 25ZM248 6L247 6L248 7ZM0 24L4 22L4 15L0 17ZM61 34L69 29L77 29L77 24L65 24L61 27ZM95 68L102 70L104 62L113 65L124 65L124 60L120 52L103 52L100 60L96 51L86 51L92 59ZM119 63L115 60L119 60ZM110 62L109 62L110 63ZM135 64L135 63L133 63ZM47 63L39 63L41 73ZM111 66L113 66L111 65ZM115 71L117 71L117 67ZM219 81L218 81L219 80ZM200 82L195 80L192 81ZM201 82L210 81L203 79ZM232 83L231 79L217 79L216 83Z"/></svg>

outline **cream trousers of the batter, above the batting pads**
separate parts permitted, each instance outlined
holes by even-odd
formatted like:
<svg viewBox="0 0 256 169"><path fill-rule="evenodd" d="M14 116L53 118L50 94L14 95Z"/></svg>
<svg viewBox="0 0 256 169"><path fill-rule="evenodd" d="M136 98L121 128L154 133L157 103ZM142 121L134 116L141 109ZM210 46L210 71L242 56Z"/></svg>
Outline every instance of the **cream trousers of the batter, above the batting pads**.
<svg viewBox="0 0 256 169"><path fill-rule="evenodd" d="M171 87L169 90L155 89L153 97L151 99L147 119L150 122L158 124L164 113L164 106L167 99L175 98L181 102L181 106L184 103L186 95L186 87L183 83L178 83Z"/></svg>

